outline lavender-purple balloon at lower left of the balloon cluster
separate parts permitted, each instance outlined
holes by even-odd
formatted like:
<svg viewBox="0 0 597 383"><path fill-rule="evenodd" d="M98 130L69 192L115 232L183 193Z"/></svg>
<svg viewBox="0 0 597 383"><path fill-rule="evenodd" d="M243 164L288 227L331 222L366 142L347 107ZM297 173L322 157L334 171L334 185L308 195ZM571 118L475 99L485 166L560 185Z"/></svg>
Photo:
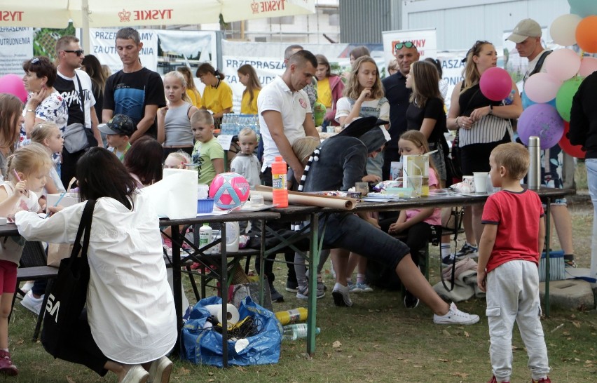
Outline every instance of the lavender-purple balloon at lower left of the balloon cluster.
<svg viewBox="0 0 597 383"><path fill-rule="evenodd" d="M541 149L549 149L561 140L564 120L551 105L533 104L522 112L518 132L524 145L528 145L530 136L536 135L541 141Z"/></svg>

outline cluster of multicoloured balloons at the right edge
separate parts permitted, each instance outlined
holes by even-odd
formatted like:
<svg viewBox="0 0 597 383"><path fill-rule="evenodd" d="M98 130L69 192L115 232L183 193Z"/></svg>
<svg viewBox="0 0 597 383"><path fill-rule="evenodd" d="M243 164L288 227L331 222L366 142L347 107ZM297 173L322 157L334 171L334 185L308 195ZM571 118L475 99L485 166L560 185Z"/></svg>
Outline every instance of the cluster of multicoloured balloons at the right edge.
<svg viewBox="0 0 597 383"><path fill-rule="evenodd" d="M597 53L597 1L568 0L570 14L561 15L549 27L554 43L575 44L586 53ZM568 139L570 109L584 77L597 71L597 58L579 55L572 49L557 49L544 62L545 73L530 76L522 97L524 112L518 132L523 143L528 137L541 137L541 148L558 144L562 150L583 159L586 152ZM556 140L557 138L557 140Z"/></svg>

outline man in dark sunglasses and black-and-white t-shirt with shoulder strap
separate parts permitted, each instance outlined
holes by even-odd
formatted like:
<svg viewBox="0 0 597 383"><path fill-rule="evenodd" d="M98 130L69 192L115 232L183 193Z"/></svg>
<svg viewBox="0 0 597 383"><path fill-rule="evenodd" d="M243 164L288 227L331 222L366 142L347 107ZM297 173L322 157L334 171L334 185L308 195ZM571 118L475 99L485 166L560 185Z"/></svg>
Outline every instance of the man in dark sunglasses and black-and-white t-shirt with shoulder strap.
<svg viewBox="0 0 597 383"><path fill-rule="evenodd" d="M67 102L69 109L68 125L81 123L84 126L88 147L76 152L69 152L67 147L62 149L62 166L60 179L62 184L68 184L75 175L76 161L85 153L85 149L103 146L102 136L97 129L97 114L95 113L95 98L91 90L89 75L78 69L85 55L79 39L75 36L62 36L56 41L57 76L54 88L60 92Z"/></svg>

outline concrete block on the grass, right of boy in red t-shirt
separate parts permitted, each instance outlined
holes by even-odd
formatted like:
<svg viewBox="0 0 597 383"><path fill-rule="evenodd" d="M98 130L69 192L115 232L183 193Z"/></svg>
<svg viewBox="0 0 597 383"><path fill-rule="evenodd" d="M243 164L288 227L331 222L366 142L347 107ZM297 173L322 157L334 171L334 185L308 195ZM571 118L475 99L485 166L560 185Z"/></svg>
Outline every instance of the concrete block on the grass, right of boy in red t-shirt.
<svg viewBox="0 0 597 383"><path fill-rule="evenodd" d="M545 283L539 283L539 295L545 302ZM595 307L595 298L591 284L586 281L567 279L549 283L549 302L551 307L565 309L590 310Z"/></svg>

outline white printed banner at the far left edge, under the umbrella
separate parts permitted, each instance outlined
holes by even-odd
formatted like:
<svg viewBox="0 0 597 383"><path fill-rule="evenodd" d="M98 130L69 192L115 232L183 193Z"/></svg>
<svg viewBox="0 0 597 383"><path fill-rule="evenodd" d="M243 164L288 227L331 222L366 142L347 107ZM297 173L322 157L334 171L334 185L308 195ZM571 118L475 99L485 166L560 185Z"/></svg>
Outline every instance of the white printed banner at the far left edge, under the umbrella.
<svg viewBox="0 0 597 383"><path fill-rule="evenodd" d="M23 74L22 63L33 56L33 28L0 27L0 76Z"/></svg>

